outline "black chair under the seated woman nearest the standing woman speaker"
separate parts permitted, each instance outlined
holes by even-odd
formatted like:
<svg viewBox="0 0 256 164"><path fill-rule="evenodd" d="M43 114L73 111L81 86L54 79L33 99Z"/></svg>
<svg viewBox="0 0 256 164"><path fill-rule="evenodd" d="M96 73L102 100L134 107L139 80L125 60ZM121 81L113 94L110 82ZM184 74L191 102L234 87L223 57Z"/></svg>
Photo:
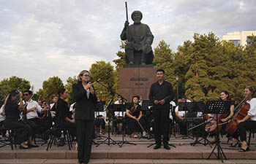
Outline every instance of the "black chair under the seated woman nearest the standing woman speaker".
<svg viewBox="0 0 256 164"><path fill-rule="evenodd" d="M69 129L68 128L52 128L48 131L49 134L49 142L48 146L46 148L46 151L48 151L49 147L51 148L53 145L53 141L56 141L57 139L61 138L62 134L64 135L64 141L67 141L67 144L69 145L69 150L72 148L72 140L69 135Z"/></svg>

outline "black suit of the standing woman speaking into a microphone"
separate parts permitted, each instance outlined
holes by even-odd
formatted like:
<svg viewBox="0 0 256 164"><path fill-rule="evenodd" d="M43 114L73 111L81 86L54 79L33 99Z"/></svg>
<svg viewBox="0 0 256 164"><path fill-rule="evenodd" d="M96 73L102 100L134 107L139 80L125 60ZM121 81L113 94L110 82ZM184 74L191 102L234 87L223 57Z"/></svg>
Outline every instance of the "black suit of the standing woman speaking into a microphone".
<svg viewBox="0 0 256 164"><path fill-rule="evenodd" d="M88 90L89 92L89 90ZM97 104L95 94L83 88L81 82L72 86L72 94L76 101L75 122L78 134L78 162L89 163L91 157L91 140L94 133L94 110Z"/></svg>

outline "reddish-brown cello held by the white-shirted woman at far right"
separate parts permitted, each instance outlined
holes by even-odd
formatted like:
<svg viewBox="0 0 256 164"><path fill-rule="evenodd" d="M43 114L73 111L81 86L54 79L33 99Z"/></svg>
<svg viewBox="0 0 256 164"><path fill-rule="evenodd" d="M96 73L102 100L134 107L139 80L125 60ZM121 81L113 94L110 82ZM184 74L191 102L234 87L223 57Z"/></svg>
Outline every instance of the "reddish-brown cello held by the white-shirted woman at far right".
<svg viewBox="0 0 256 164"><path fill-rule="evenodd" d="M247 112L250 109L250 105L246 102L249 100L249 98L255 94L256 90L253 90L249 95L247 95L234 109L235 114L233 115L230 122L228 122L227 127L225 128L225 131L227 133L233 134L236 132L238 128L238 120L242 120L244 117L246 117Z"/></svg>

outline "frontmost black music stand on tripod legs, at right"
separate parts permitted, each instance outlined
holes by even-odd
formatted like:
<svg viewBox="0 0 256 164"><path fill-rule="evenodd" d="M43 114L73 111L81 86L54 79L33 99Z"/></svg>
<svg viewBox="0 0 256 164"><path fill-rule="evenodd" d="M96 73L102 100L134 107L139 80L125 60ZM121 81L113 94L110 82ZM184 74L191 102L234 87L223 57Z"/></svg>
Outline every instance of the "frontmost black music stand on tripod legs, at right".
<svg viewBox="0 0 256 164"><path fill-rule="evenodd" d="M206 102L206 112L208 114L217 114L217 129L218 128L218 114L226 114L228 110L230 109L230 101L207 101ZM218 155L214 152L214 150L217 148ZM210 159L211 155L214 153L214 155L219 159L222 160L222 155L225 157L225 160L227 160L227 157L225 156L222 147L219 144L219 130L217 130L217 141L214 149L211 151L211 154L208 156L207 160Z"/></svg>

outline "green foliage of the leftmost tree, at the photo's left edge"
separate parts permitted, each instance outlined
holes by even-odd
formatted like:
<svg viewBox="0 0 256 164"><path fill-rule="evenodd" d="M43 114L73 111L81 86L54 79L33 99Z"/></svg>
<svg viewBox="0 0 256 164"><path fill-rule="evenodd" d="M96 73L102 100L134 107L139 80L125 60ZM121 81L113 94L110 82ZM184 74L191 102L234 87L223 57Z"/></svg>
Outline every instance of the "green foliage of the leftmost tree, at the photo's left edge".
<svg viewBox="0 0 256 164"><path fill-rule="evenodd" d="M20 90L23 92L24 90L29 90L31 87L30 82L26 79L22 79L20 77L12 76L9 79L3 79L0 82L0 100L3 100L5 96L10 93L11 90ZM6 95L4 95L6 94Z"/></svg>

